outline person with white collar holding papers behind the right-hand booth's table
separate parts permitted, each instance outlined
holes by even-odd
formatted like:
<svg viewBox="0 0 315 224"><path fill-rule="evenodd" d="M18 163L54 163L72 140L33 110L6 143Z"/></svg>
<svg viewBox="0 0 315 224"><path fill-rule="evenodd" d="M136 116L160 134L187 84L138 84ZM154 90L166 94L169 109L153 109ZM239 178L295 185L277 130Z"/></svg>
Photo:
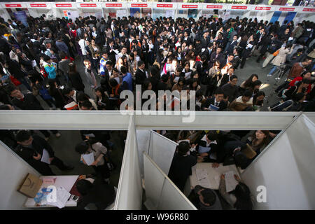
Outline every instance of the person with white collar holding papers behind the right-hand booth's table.
<svg viewBox="0 0 315 224"><path fill-rule="evenodd" d="M217 134L210 131L200 139L197 146L197 152L203 158L203 162L216 161L216 151L218 151Z"/></svg>

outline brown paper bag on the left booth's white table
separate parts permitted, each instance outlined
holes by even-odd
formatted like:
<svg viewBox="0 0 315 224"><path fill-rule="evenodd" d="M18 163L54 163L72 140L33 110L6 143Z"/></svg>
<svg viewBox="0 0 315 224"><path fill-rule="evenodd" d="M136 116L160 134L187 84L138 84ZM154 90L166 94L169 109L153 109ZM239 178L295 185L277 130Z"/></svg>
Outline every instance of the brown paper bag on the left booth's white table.
<svg viewBox="0 0 315 224"><path fill-rule="evenodd" d="M18 188L18 192L27 197L36 197L38 190L41 188L43 181L33 174L27 174L22 184Z"/></svg>

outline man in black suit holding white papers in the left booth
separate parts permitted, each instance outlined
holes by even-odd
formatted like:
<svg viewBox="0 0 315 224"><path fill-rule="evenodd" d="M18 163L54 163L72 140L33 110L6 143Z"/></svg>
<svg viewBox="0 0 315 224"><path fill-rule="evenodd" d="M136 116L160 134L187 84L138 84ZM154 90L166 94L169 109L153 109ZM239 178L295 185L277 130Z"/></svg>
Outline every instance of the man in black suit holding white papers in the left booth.
<svg viewBox="0 0 315 224"><path fill-rule="evenodd" d="M18 132L16 141L19 144L16 153L43 176L55 176L49 165L55 165L60 170L73 169L73 166L64 165L48 142L37 135L32 136L30 132L22 130Z"/></svg>

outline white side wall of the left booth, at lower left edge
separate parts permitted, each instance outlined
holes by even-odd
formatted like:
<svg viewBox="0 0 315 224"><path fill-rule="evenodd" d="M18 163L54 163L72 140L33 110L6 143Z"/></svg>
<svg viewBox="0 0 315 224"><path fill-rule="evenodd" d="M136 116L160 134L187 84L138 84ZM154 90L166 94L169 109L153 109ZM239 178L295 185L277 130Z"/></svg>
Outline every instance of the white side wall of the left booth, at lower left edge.
<svg viewBox="0 0 315 224"><path fill-rule="evenodd" d="M30 173L40 176L33 167L0 141L0 209L25 209L27 197L17 191L25 176Z"/></svg>

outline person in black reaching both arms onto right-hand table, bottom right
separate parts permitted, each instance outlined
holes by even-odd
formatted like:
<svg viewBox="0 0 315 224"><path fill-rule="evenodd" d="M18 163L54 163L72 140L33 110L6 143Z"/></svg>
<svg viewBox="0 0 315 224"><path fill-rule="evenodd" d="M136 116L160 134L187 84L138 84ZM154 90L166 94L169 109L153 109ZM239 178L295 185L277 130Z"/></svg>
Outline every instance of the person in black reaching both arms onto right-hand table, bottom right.
<svg viewBox="0 0 315 224"><path fill-rule="evenodd" d="M252 210L253 202L251 201L251 191L245 183L241 183L241 179L236 174L234 175L235 180L239 183L235 187L235 190L226 192L225 188L225 175L221 175L221 181L219 186L219 192L228 204L233 209L237 210Z"/></svg>

